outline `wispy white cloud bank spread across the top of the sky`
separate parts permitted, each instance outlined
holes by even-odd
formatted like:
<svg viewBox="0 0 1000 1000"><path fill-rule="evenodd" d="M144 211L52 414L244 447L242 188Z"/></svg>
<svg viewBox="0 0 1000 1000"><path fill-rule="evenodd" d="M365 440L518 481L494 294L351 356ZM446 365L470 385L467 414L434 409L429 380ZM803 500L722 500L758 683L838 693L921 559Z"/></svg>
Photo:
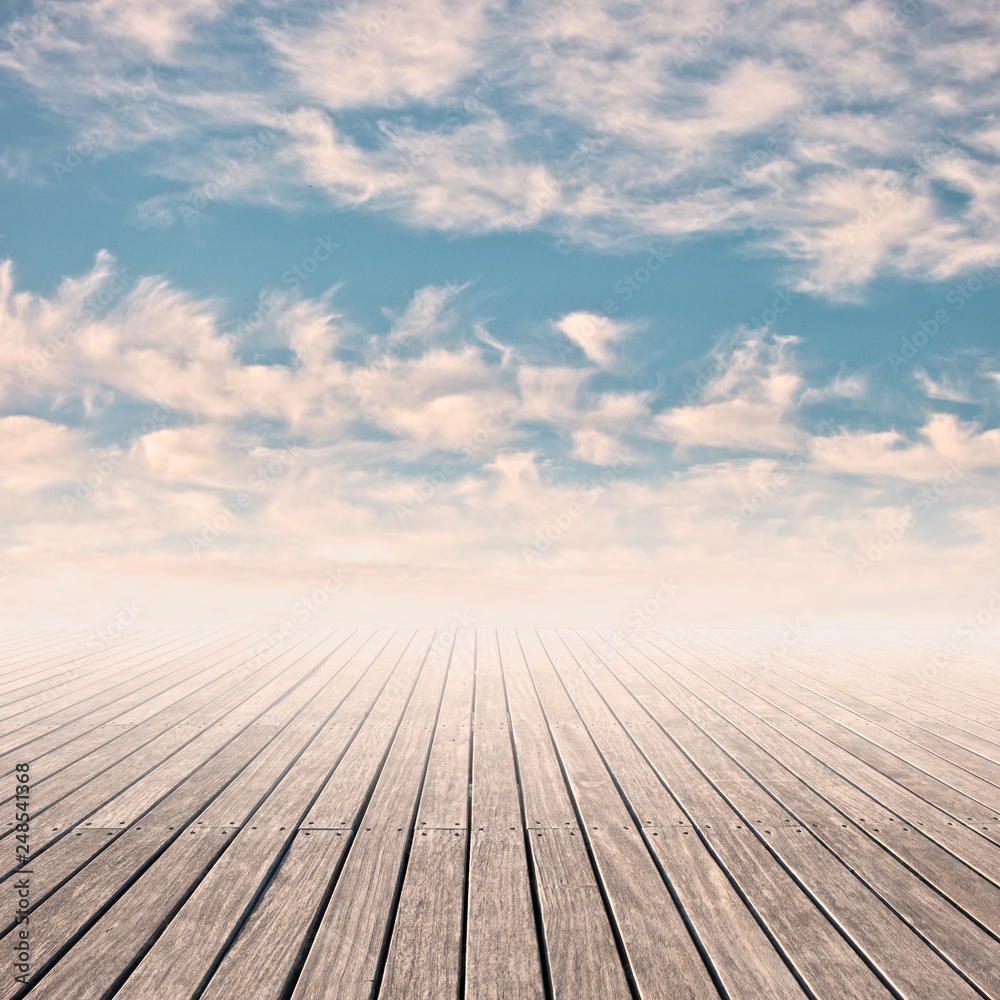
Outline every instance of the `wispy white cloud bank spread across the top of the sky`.
<svg viewBox="0 0 1000 1000"><path fill-rule="evenodd" d="M989 6L933 25L848 0L48 10L8 25L0 65L74 135L151 62L165 70L100 155L148 145L152 172L197 188L280 112L274 146L237 159L220 198L298 204L314 185L420 227L543 227L604 247L750 231L800 290L838 297L1000 253ZM230 20L246 48L219 55ZM204 139L186 144L185 129ZM960 210L942 184L966 195ZM176 203L157 195L139 215L167 223Z"/></svg>

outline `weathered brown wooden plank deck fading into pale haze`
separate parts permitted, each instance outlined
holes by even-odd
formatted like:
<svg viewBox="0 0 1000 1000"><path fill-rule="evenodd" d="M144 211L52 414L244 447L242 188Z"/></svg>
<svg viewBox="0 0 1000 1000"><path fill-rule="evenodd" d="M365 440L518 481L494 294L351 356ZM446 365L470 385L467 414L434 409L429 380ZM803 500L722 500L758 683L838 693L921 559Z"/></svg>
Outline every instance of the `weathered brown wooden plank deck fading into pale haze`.
<svg viewBox="0 0 1000 1000"><path fill-rule="evenodd" d="M89 639L0 647L0 1000L1000 998L988 633Z"/></svg>

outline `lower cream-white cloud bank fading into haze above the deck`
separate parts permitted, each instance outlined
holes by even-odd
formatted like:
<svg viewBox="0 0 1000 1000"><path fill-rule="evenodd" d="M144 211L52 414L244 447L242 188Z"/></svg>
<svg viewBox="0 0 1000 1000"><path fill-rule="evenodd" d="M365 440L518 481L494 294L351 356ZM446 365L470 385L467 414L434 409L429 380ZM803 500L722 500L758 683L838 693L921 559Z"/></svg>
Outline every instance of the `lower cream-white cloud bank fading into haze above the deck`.
<svg viewBox="0 0 1000 1000"><path fill-rule="evenodd" d="M0 268L10 620L80 621L131 597L151 624L280 618L334 567L350 586L330 621L614 625L665 571L684 594L669 621L947 619L975 610L1000 554L980 474L1000 466L1000 431L937 414L911 438L810 438L800 408L858 383L809 385L787 338L744 332L694 401L654 418L650 394L591 363L470 338L447 286L417 289L373 341L334 292L279 296L269 336L290 359L253 364L220 303L115 274L100 254L44 297ZM693 447L717 460L671 460ZM968 473L859 578L854 554L949 467ZM555 541L526 561L546 528Z"/></svg>

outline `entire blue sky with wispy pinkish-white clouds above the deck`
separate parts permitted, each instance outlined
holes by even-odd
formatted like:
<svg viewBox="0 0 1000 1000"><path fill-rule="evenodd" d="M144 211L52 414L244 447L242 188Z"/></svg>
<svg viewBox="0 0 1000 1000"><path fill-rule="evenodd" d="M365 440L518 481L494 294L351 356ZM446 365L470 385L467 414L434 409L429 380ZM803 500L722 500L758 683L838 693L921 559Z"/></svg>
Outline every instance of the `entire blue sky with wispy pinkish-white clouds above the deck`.
<svg viewBox="0 0 1000 1000"><path fill-rule="evenodd" d="M990 627L995 2L0 18L0 623Z"/></svg>

